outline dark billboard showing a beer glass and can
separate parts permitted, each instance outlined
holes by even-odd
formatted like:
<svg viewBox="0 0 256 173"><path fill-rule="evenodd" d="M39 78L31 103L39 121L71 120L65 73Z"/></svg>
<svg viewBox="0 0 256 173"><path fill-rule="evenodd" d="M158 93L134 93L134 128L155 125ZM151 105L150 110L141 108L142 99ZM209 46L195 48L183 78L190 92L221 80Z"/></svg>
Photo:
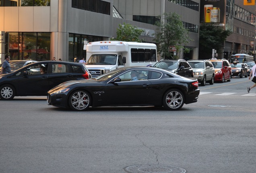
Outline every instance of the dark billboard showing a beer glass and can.
<svg viewBox="0 0 256 173"><path fill-rule="evenodd" d="M224 23L226 0L201 0L200 22Z"/></svg>

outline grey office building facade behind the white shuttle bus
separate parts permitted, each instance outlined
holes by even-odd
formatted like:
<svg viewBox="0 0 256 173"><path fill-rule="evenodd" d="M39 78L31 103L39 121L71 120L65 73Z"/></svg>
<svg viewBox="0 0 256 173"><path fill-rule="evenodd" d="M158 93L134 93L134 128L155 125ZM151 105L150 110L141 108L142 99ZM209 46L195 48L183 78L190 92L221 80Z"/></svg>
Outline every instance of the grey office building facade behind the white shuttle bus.
<svg viewBox="0 0 256 173"><path fill-rule="evenodd" d="M0 0L1 61L4 54L12 60L73 61L86 56L84 41L116 37L119 24L130 23L145 32L145 42L154 42L155 21L164 12L180 14L190 30L191 49L181 54L196 59L199 43L200 0ZM28 4L28 2L31 2ZM39 3L39 4L38 4ZM158 57L159 59L161 57Z"/></svg>

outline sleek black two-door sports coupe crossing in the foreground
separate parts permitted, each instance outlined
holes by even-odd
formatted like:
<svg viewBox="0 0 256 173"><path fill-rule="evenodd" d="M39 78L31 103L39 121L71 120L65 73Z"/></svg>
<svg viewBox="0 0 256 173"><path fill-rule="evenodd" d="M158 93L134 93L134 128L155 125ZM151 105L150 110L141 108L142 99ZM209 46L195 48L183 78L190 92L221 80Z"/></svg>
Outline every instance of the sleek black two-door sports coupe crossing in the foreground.
<svg viewBox="0 0 256 173"><path fill-rule="evenodd" d="M131 81L135 72L138 80ZM48 105L84 111L102 106L156 106L178 110L197 102L198 81L152 67L123 67L95 79L64 82L48 91Z"/></svg>

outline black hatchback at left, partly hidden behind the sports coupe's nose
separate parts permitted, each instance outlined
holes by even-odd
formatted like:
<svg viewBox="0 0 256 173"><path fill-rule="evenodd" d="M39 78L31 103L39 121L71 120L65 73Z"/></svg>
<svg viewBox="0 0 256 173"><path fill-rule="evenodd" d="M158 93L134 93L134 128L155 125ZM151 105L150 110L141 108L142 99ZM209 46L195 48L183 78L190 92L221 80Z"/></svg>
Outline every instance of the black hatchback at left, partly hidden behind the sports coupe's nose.
<svg viewBox="0 0 256 173"><path fill-rule="evenodd" d="M46 68L41 74L40 68ZM84 64L64 61L40 61L24 66L10 74L0 75L0 98L14 96L46 96L47 91L62 82L91 78Z"/></svg>

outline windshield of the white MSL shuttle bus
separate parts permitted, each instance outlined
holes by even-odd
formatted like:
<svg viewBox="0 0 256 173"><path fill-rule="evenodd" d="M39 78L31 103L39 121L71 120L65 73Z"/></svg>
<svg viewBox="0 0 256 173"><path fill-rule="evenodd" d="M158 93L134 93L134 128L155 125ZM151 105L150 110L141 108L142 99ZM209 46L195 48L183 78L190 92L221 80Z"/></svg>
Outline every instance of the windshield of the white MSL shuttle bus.
<svg viewBox="0 0 256 173"><path fill-rule="evenodd" d="M89 58L87 64L115 65L116 59L116 54L94 54Z"/></svg>

